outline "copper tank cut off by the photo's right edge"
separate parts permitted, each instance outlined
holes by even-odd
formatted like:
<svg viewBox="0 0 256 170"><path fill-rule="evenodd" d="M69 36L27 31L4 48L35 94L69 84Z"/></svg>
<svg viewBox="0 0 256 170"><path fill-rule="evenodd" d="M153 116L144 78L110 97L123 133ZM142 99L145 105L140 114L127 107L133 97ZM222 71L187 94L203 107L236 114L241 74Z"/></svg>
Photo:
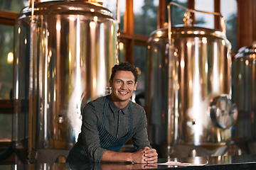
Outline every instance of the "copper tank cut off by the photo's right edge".
<svg viewBox="0 0 256 170"><path fill-rule="evenodd" d="M256 153L256 43L241 47L232 64L233 98L238 106L234 140L241 154Z"/></svg>

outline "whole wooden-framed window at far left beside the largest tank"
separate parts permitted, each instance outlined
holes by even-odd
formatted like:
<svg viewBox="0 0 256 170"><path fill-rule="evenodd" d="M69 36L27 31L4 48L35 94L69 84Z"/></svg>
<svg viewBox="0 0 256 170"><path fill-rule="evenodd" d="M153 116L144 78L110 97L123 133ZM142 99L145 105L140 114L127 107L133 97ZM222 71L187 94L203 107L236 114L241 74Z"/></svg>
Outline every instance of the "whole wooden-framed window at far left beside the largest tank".
<svg viewBox="0 0 256 170"><path fill-rule="evenodd" d="M10 142L12 138L14 22L26 2L28 1L0 2L0 142Z"/></svg>

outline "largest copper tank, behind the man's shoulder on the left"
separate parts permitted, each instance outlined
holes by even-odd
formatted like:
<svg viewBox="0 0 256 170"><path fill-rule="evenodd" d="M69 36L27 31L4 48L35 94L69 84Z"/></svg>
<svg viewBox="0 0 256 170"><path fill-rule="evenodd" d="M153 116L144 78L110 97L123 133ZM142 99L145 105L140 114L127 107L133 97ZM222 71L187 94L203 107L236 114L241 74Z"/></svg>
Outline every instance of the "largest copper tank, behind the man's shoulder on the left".
<svg viewBox="0 0 256 170"><path fill-rule="evenodd" d="M99 4L49 1L21 11L14 100L28 103L23 131L31 162L54 162L68 154L80 132L82 106L110 91L116 43L117 21ZM15 114L22 115L16 107Z"/></svg>

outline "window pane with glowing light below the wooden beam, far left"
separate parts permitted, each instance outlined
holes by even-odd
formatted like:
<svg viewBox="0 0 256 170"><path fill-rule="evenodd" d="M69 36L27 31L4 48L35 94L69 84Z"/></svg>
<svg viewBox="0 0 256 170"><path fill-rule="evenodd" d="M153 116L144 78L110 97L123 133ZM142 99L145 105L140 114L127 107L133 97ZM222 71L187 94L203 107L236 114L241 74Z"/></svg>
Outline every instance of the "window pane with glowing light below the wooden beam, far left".
<svg viewBox="0 0 256 170"><path fill-rule="evenodd" d="M5 111L0 114L0 142L11 141L11 89L14 60L14 27L0 25L0 100L3 101Z"/></svg>

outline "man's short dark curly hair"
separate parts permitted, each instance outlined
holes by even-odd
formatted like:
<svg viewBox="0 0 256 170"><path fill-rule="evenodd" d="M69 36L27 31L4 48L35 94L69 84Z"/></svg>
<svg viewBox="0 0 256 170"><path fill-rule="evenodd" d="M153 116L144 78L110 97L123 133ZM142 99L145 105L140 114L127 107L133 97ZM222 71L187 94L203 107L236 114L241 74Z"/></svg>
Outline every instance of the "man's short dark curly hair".
<svg viewBox="0 0 256 170"><path fill-rule="evenodd" d="M117 71L129 71L129 72L132 72L132 74L134 74L135 84L137 83L137 81L138 81L138 71L134 67L134 65L129 64L128 62L121 62L119 64L115 64L114 67L112 67L112 73L111 73L111 77L110 77L110 79L112 81L114 79L114 74Z"/></svg>

